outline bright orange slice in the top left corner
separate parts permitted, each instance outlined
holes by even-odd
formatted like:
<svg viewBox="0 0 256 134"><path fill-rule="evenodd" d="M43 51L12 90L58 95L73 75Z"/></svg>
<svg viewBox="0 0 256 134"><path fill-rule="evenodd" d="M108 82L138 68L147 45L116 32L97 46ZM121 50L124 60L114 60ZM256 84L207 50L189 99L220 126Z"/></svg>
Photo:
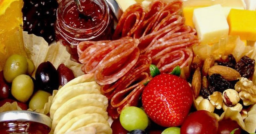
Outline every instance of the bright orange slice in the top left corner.
<svg viewBox="0 0 256 134"><path fill-rule="evenodd" d="M22 39L23 0L0 0L0 70L12 54L26 56Z"/></svg>

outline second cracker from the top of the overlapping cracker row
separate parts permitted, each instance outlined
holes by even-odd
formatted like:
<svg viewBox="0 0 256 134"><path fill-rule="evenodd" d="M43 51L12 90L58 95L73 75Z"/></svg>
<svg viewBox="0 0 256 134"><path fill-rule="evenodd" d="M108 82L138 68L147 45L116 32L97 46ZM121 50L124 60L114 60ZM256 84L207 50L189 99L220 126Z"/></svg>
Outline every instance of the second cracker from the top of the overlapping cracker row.
<svg viewBox="0 0 256 134"><path fill-rule="evenodd" d="M85 82L85 83L69 86L63 89L62 91L63 92L60 93L59 96L55 98L55 100L52 102L52 106L50 108L51 118L53 117L56 110L65 102L67 102L69 99L72 99L80 94L85 94L85 93L100 94L100 86L95 81Z"/></svg>

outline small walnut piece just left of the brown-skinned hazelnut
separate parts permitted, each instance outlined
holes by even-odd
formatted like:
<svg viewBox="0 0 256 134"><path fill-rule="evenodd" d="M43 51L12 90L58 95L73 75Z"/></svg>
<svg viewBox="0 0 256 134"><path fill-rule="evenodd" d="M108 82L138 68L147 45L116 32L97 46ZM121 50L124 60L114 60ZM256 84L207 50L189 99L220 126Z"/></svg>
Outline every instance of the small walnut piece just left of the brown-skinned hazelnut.
<svg viewBox="0 0 256 134"><path fill-rule="evenodd" d="M215 108L217 109L222 108L223 99L220 92L213 92L212 95L208 96L208 99L210 100L210 102Z"/></svg>

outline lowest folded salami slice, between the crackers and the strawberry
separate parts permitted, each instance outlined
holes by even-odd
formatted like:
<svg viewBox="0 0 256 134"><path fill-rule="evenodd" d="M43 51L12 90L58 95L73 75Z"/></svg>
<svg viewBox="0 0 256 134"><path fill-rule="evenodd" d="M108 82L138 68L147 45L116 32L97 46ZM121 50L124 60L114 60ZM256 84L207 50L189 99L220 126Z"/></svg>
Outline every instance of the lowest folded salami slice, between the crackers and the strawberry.
<svg viewBox="0 0 256 134"><path fill-rule="evenodd" d="M136 106L144 89L143 83L150 79L151 59L141 55L133 68L116 83L101 86L101 92L110 100L108 112L112 118L118 117L126 106Z"/></svg>

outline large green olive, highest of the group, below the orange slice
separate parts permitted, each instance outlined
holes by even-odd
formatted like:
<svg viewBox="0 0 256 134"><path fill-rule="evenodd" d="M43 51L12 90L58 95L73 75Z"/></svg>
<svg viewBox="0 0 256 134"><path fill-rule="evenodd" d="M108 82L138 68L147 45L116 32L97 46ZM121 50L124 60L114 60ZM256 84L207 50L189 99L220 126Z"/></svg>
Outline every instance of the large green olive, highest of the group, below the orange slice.
<svg viewBox="0 0 256 134"><path fill-rule="evenodd" d="M20 55L10 56L4 65L4 78L7 82L12 82L14 78L28 71L27 58Z"/></svg>

